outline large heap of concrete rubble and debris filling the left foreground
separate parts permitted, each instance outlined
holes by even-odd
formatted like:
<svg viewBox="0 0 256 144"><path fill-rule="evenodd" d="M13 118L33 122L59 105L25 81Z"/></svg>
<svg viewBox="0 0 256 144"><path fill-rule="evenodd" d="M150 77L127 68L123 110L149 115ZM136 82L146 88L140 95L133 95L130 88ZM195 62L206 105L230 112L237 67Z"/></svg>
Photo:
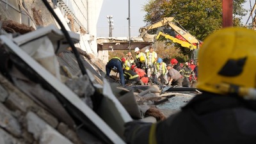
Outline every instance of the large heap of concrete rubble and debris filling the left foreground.
<svg viewBox="0 0 256 144"><path fill-rule="evenodd" d="M31 2L28 1L28 13L34 13L33 20L38 25L45 26L45 24L53 23L52 17L44 19L49 13L44 13L45 10L42 10L44 14L38 11L40 4L35 4L33 9L34 5L31 6ZM6 37L0 36L0 59L2 60L0 64L1 144L124 143L122 134L124 122L132 119L145 122L164 120L172 113L166 112L168 109L166 110L164 107L162 110L161 104L156 106L156 102L163 99L168 99L164 102L175 101L173 97L167 97L168 95L184 97L180 93L161 95L161 90L156 85L120 87L115 80L109 77L104 78L105 64L101 60L79 48L77 50L83 66L88 72L84 76L81 74L70 47L65 47L63 51L55 55L55 49L52 46L51 57L45 57L44 60L38 59L33 54L42 56L42 53L36 54L33 51L31 54L27 44L22 46L17 44L17 41L14 42L17 38L19 39L20 35L38 29L35 30L30 26L8 20L8 13L4 13L6 12L2 12L0 15L2 17L1 34L6 35ZM36 17L36 13L38 17ZM7 33L12 34L7 35ZM34 43L39 44L39 41ZM40 65L40 68L47 70L48 73L45 73L44 76L47 77L51 74L52 81L44 79L44 76L36 72L36 68L32 67L32 64L29 65L29 63L34 63L33 61L26 62L26 58L15 53L15 49L10 48L7 43L15 45L19 51L22 50L22 52L30 54L28 57L31 59L29 60L37 61L36 67ZM30 44L32 43L30 42ZM45 43L52 44L51 38L46 38L40 45ZM40 45L39 51L50 47L47 45L40 48ZM45 51L47 50L43 52ZM57 64L52 62L54 60L57 61ZM55 81L58 83L53 83ZM57 90L59 82L63 84L63 88L68 90ZM61 92L74 93L74 99L63 97L65 93ZM97 93L97 97L95 97L95 93ZM184 101L188 101L193 95L186 95ZM95 102L99 102L99 105ZM177 106L171 111L175 110L174 112L176 112L179 109L180 107ZM109 131L106 132L104 129Z"/></svg>

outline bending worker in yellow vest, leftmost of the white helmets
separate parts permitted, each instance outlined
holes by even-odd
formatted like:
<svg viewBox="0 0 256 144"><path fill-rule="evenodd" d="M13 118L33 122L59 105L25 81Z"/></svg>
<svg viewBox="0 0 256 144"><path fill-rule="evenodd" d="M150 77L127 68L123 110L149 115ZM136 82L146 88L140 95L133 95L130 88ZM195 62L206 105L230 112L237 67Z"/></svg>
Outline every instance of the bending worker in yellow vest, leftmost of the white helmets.
<svg viewBox="0 0 256 144"><path fill-rule="evenodd" d="M139 47L136 47L134 52L136 52L136 60L134 61L136 66L145 70L147 68L147 56L140 51Z"/></svg>

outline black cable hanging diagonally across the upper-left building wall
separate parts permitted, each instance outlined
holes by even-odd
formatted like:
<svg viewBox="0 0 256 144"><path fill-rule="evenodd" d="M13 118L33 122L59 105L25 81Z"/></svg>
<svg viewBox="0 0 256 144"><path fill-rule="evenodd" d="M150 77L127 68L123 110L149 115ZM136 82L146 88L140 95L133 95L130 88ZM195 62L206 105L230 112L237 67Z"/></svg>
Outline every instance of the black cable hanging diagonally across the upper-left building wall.
<svg viewBox="0 0 256 144"><path fill-rule="evenodd" d="M67 29L65 29L64 25L61 23L61 20L58 18L58 16L56 15L56 13L54 12L54 10L52 9L51 5L48 3L47 0L42 0L43 3L45 4L46 8L49 10L49 12L51 12L52 16L54 17L54 19L56 19L56 21L58 22L58 24L60 25L60 28L61 28L61 31L63 33L63 35L65 36L65 38L67 39L68 41L68 44L70 45L72 51L74 52L75 56L76 56L76 60L77 60L77 63L79 65L79 68L82 72L82 74L87 74L84 66L83 66L83 63L81 61L81 58L80 58L80 54L79 52L77 51L72 39L70 38L70 35L68 34L68 31Z"/></svg>

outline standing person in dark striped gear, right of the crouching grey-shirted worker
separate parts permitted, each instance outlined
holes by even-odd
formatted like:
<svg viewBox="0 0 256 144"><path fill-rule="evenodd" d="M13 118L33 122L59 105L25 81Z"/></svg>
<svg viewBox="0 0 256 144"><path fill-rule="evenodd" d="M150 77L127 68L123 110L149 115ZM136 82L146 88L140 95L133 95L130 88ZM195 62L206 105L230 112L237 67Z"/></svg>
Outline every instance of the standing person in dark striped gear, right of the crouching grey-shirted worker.
<svg viewBox="0 0 256 144"><path fill-rule="evenodd" d="M183 82L182 86L184 87L190 87L191 83L189 81L189 77L194 74L193 70L189 67L189 63L186 62L185 66L182 68L182 74L183 74Z"/></svg>

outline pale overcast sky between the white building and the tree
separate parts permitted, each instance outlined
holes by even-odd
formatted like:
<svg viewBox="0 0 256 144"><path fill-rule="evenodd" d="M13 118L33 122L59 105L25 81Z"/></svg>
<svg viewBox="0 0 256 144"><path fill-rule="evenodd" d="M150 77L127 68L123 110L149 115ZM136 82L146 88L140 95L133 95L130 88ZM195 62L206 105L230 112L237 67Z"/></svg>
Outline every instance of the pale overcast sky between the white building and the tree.
<svg viewBox="0 0 256 144"><path fill-rule="evenodd" d="M109 23L107 15L113 15L114 29L112 30L112 36L129 36L129 20L127 17L129 15L129 0L104 0L102 4L102 9L100 11L99 20L97 23L97 36L98 37L108 37L109 36ZM130 16L131 16L131 36L138 36L139 29L145 26L143 22L145 12L142 11L142 7L148 0L130 0ZM252 4L255 2L252 1ZM253 6L253 5L252 5ZM250 10L249 0L244 4L244 8ZM248 12L249 13L249 12ZM254 16L254 13L253 13ZM246 23L249 15L243 17L243 24ZM248 23L252 22L250 19Z"/></svg>

